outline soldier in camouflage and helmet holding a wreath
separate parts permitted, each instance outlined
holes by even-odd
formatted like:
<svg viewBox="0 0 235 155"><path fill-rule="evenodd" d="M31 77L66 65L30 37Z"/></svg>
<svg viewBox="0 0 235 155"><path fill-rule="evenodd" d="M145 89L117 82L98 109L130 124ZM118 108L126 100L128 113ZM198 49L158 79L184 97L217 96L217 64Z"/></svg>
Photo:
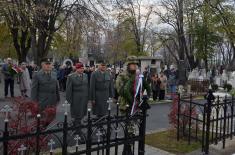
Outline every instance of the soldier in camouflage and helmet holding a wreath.
<svg viewBox="0 0 235 155"><path fill-rule="evenodd" d="M134 103L134 99L140 103L140 95L135 98L136 87L138 85L139 78L144 78L137 73L138 69L138 61L137 57L129 56L127 58L127 69L118 75L116 80L116 89L119 94L118 102L120 103L120 112L121 114L130 114L132 110L132 105ZM150 87L147 82L143 79L143 87L139 93L143 93L146 90L148 95L150 94ZM128 135L131 136L134 133L134 125L132 122L127 126ZM132 150L132 144L125 144L123 148L123 155L133 155L134 152Z"/></svg>

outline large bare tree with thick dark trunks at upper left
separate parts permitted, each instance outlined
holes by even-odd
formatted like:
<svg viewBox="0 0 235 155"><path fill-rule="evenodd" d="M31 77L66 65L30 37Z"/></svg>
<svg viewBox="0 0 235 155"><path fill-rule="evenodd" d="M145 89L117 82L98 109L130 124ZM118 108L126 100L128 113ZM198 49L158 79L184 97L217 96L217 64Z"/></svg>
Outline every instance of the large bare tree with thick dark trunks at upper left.
<svg viewBox="0 0 235 155"><path fill-rule="evenodd" d="M20 61L25 60L31 47L37 64L48 55L55 32L69 15L98 14L89 0L3 0L0 6L4 6L2 13L11 28Z"/></svg>

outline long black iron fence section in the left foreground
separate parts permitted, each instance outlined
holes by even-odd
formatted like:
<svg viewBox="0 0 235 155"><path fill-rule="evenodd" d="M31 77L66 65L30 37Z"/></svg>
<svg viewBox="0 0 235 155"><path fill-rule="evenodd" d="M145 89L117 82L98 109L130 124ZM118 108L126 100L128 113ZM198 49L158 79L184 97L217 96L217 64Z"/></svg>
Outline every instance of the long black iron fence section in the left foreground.
<svg viewBox="0 0 235 155"><path fill-rule="evenodd" d="M144 155L146 105L147 99L144 99L135 115L120 114L118 104L115 114L111 115L109 106L108 115L102 118L92 118L88 109L87 120L78 126L68 121L66 111L64 121L52 129L43 129L41 116L37 115L36 127L26 134L11 131L6 117L0 137L1 154L39 155L46 152L53 155L56 149L62 155ZM5 112L7 114L8 110Z"/></svg>

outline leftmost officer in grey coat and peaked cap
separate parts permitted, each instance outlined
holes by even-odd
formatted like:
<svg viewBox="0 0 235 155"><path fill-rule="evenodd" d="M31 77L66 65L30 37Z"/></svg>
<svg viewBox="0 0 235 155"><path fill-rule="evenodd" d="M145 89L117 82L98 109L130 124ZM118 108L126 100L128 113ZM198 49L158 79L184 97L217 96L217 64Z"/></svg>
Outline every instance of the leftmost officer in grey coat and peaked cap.
<svg viewBox="0 0 235 155"><path fill-rule="evenodd" d="M52 71L50 58L43 58L41 70L32 79L31 99L39 104L39 111L55 106L60 101L57 75Z"/></svg>

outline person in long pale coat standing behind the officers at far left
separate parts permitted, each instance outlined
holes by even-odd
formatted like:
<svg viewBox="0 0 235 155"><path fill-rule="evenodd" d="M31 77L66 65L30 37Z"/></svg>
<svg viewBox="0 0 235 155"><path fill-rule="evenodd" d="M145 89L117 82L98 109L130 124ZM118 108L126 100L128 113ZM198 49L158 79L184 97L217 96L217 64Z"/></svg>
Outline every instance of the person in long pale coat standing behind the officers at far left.
<svg viewBox="0 0 235 155"><path fill-rule="evenodd" d="M25 62L21 63L21 74L19 75L20 91L23 97L30 97L31 79Z"/></svg>

